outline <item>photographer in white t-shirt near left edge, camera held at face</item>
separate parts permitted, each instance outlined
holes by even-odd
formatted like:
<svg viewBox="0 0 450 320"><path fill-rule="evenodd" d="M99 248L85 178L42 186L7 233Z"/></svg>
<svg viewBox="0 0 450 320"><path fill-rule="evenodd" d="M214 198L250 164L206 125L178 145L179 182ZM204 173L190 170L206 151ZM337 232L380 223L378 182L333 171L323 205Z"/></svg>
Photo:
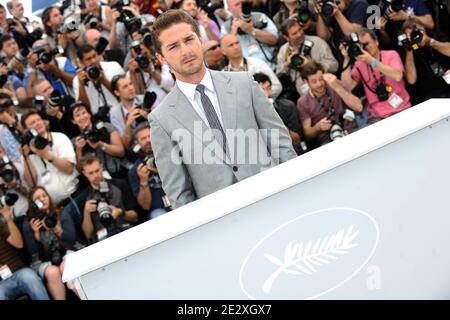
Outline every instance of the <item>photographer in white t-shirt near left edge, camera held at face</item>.
<svg viewBox="0 0 450 320"><path fill-rule="evenodd" d="M28 130L23 142L33 154L24 154L24 157L29 160L34 181L46 188L56 204L65 201L76 191L78 183L75 151L70 139L63 133L49 132L36 111L24 114L20 121Z"/></svg>

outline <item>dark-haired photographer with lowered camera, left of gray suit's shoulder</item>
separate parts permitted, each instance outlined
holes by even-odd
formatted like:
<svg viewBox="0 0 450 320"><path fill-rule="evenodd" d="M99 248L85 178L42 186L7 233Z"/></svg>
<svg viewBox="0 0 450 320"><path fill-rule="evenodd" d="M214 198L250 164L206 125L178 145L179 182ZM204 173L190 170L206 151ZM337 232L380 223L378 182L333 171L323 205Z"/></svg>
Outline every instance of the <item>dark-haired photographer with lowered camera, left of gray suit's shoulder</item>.
<svg viewBox="0 0 450 320"><path fill-rule="evenodd" d="M120 111L111 114L111 124L119 131L122 144L127 149L132 142L133 129L139 122L147 121L151 106L145 106L142 99L136 95L136 90L126 75L114 77L111 85L120 100Z"/></svg>

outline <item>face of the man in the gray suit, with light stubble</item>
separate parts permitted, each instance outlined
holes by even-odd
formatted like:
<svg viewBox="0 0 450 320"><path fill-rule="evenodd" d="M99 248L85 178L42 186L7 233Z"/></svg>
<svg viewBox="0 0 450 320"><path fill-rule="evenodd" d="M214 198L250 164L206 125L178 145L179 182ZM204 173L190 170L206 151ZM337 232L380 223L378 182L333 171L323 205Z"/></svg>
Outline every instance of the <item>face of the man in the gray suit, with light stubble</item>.
<svg viewBox="0 0 450 320"><path fill-rule="evenodd" d="M164 30L160 36L161 64L169 64L175 76L183 80L204 68L202 44L191 25L179 23Z"/></svg>

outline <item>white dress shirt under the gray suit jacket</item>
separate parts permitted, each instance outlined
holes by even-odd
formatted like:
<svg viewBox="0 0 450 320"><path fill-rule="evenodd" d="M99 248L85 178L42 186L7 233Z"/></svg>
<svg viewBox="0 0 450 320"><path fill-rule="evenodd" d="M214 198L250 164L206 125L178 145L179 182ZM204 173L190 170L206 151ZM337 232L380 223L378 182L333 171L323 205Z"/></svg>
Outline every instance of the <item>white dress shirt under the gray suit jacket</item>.
<svg viewBox="0 0 450 320"><path fill-rule="evenodd" d="M214 84L212 82L211 73L208 69L206 69L206 73L200 81L199 84L202 84L205 86L205 94L208 96L209 100L214 106L214 110L216 111L217 117L219 118L220 124L222 125L222 128L225 130L225 127L223 126L222 121L222 113L220 112L219 108L219 100L217 99L217 93L214 89ZM191 103L194 110L198 113L200 118L203 120L203 122L208 126L208 128L211 128L208 122L208 119L206 118L205 111L203 110L203 105L201 101L201 95L200 92L196 90L197 85L192 83L183 82L177 79L177 85L178 88L180 88L181 92L186 96L186 98Z"/></svg>

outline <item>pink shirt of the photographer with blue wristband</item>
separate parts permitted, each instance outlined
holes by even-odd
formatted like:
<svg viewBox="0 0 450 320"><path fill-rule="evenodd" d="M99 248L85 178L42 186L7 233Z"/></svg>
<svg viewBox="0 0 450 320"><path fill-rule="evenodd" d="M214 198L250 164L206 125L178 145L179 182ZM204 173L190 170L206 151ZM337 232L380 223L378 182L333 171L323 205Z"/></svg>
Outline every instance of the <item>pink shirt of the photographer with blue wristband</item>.
<svg viewBox="0 0 450 320"><path fill-rule="evenodd" d="M399 54L394 50L381 51L381 62L395 69L401 69L404 72L402 60L400 59ZM358 69L360 72L358 72ZM367 65L361 61L356 61L355 66L352 69L352 77L358 83L365 82L373 91L375 91L375 88L377 87L377 80L381 78L382 74L376 69L373 70L373 72L372 70L373 69L370 65ZM374 79L374 74L377 80ZM363 77L364 82L361 81L361 76ZM387 100L379 101L377 95L368 89L367 85L364 84L364 92L369 102L369 118L387 118L411 106L409 94L406 91L405 81L403 79L397 82L392 78L384 76L384 83L387 86L391 86L391 94L396 93L403 99L403 102L400 106L394 108Z"/></svg>

